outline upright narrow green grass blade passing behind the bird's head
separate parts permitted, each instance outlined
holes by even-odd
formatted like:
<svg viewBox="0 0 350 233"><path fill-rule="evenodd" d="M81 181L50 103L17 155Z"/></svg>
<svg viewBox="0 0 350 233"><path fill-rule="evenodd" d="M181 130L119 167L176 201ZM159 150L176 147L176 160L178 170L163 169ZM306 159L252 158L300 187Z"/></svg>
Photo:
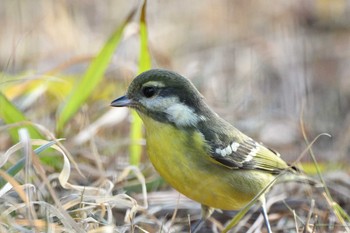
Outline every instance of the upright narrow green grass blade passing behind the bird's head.
<svg viewBox="0 0 350 233"><path fill-rule="evenodd" d="M142 5L141 17L140 17L140 57L139 57L139 70L138 73L142 73L151 69L152 62L151 56L148 50L148 32L146 23L146 5L145 0ZM142 122L136 112L132 112L132 124L131 124L131 144L130 144L130 164L139 165L141 160L142 146L139 143L142 140Z"/></svg>

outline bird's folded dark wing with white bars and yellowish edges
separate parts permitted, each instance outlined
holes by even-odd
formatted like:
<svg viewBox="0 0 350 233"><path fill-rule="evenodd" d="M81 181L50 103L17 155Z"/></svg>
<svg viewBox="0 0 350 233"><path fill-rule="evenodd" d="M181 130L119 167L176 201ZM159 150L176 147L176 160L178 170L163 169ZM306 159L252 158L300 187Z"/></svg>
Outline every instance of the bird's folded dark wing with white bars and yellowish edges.
<svg viewBox="0 0 350 233"><path fill-rule="evenodd" d="M218 115L213 114L208 121L199 124L213 162L230 169L254 169L274 174L289 169L276 151L254 141Z"/></svg>

